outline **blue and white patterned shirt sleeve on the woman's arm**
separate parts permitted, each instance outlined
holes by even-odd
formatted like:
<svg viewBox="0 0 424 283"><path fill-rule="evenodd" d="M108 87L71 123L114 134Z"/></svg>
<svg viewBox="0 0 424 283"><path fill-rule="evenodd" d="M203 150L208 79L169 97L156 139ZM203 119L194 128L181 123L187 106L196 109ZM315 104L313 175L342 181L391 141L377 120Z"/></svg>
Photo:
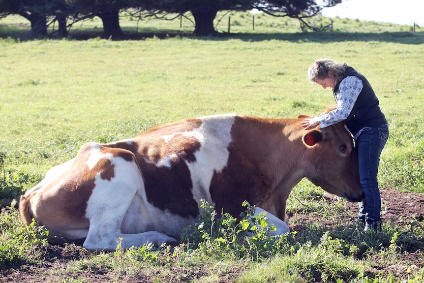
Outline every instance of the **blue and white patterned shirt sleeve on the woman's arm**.
<svg viewBox="0 0 424 283"><path fill-rule="evenodd" d="M328 114L319 116L320 127L325 128L343 120L346 120L352 112L358 95L363 88L363 82L356 76L348 76L340 82L340 93L336 95L337 108Z"/></svg>

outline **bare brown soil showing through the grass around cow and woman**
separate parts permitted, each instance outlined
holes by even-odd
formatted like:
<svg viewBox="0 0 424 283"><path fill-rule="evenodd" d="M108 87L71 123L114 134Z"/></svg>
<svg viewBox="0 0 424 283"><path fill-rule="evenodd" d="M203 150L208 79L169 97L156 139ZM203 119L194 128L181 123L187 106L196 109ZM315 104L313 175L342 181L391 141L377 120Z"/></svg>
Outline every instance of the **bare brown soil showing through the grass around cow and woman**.
<svg viewBox="0 0 424 283"><path fill-rule="evenodd" d="M424 220L424 194L398 192L393 189L382 188L382 220L394 226L404 226L405 223ZM328 202L338 201L337 198L329 197ZM346 216L352 218L358 211L358 204L346 203L347 214L340 218L340 221L346 221ZM343 219L344 218L344 219ZM323 219L318 213L302 214L291 213L290 220L296 224L291 224L292 231L303 231L306 229L306 223L317 221L322 225L334 225ZM350 219L349 221L351 221ZM304 223L304 224L299 224ZM423 237L423 235L421 235ZM424 241L423 238L419 239ZM424 244L423 244L424 245ZM420 245L423 247L423 245ZM424 267L424 255L420 247L410 249L405 253L398 255L398 262L402 264L386 265L380 264L379 258L375 259L375 266L371 270L370 276L383 274L392 275L406 279L409 274L408 268L413 266L416 270ZM127 283L148 283L153 281L153 276L140 275L138 277L125 277L117 273L110 274L107 270L87 270L84 272L72 272L69 270L69 262L73 259L83 259L90 256L90 252L78 246L71 247L49 245L45 251L45 260L42 264L21 264L7 266L0 269L0 282L13 283L39 283L39 282L77 282L106 283L106 282L127 282ZM372 258L371 258L372 260ZM160 282L190 282L194 279L200 279L211 274L210 267L195 267L190 269L180 267L170 267L173 275L156 275ZM54 270L62 270L63 278L54 276ZM68 271L69 270L69 271ZM220 283L234 282L246 270L244 264L234 264L225 271L216 274ZM178 279L178 280L177 280ZM72 282L72 281L71 281Z"/></svg>

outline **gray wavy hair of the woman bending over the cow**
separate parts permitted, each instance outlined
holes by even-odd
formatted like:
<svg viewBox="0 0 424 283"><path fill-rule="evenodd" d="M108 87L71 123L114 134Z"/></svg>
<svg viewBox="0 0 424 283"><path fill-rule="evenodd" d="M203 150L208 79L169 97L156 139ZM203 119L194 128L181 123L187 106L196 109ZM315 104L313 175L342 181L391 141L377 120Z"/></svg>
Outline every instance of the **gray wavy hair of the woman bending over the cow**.
<svg viewBox="0 0 424 283"><path fill-rule="evenodd" d="M341 81L346 71L346 63L337 63L331 59L318 59L308 69L309 81L315 83L317 80L324 80L329 76L328 72L332 71L334 79Z"/></svg>

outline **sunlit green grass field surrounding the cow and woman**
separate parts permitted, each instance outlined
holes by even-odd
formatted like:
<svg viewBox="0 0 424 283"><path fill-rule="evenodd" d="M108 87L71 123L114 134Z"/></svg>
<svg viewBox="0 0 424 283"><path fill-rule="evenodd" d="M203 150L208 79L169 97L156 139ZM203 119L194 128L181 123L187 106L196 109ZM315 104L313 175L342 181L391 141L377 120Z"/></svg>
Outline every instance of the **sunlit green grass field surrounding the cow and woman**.
<svg viewBox="0 0 424 283"><path fill-rule="evenodd" d="M158 124L217 113L264 118L319 114L334 101L330 90L307 80L306 70L318 58L333 58L355 67L368 78L380 99L391 124L391 136L381 157L380 185L424 193L424 32L418 29L412 33L407 26L335 19L333 32L303 33L292 20L265 16L256 16L257 26L252 31L250 14L233 13L231 17L231 36L194 38L184 33L193 27L184 23L180 28L179 19L149 19L140 21L138 32L183 33L165 39L120 41L96 37L101 24L95 19L76 24L65 40L26 40L25 21L18 17L0 20L0 199L4 208L0 266L4 273L22 262L37 266L43 260L43 249L51 249L45 248L34 227L22 230L16 211L5 207L38 183L49 168L74 157L82 144L115 141ZM124 31L135 32L136 22L126 18L121 25ZM228 18L221 22L218 30L226 31ZM72 32L95 36L76 40ZM303 181L294 189L288 209L298 210L298 201L314 207L313 196L322 194ZM177 282L165 274L173 271L179 271L179 280L186 282L222 280L213 277L213 271L230 277L233 271L240 282L260 282L261 274L271 274L272 278L263 277L268 282L308 282L318 277L322 282L420 282L423 276L419 252L424 248L419 244L424 239L423 220L409 228L385 227L379 236L361 234L353 224L337 224L336 229L344 228L344 232L333 231L329 236L313 225L309 226L310 236L293 235L286 239L290 247L280 243L282 248L271 257L213 256L213 239L210 250L202 250L205 253L187 251L183 246L169 254L146 249L123 252L118 247L116 253L93 255L71 246L68 249L74 250L67 252L78 256L64 270L56 271L53 278L60 279L52 282L101 282L97 277L84 276L79 281L75 276L95 273L93 270L112 272L112 279L118 282L136 282L141 269L153 282ZM361 241L367 243L367 250L362 250ZM416 250L404 251L402 247L408 245L415 245ZM417 250L421 261L409 263L407 274L378 277L370 271L370 261L381 263L384 259L400 266L403 252ZM328 261L320 261L325 254ZM304 257L322 264L322 269L302 265ZM282 262L291 262L296 270ZM184 280L181 268L188 279ZM208 274L190 277L195 270ZM318 277L314 270L320 270ZM282 279L275 274L283 274Z"/></svg>

